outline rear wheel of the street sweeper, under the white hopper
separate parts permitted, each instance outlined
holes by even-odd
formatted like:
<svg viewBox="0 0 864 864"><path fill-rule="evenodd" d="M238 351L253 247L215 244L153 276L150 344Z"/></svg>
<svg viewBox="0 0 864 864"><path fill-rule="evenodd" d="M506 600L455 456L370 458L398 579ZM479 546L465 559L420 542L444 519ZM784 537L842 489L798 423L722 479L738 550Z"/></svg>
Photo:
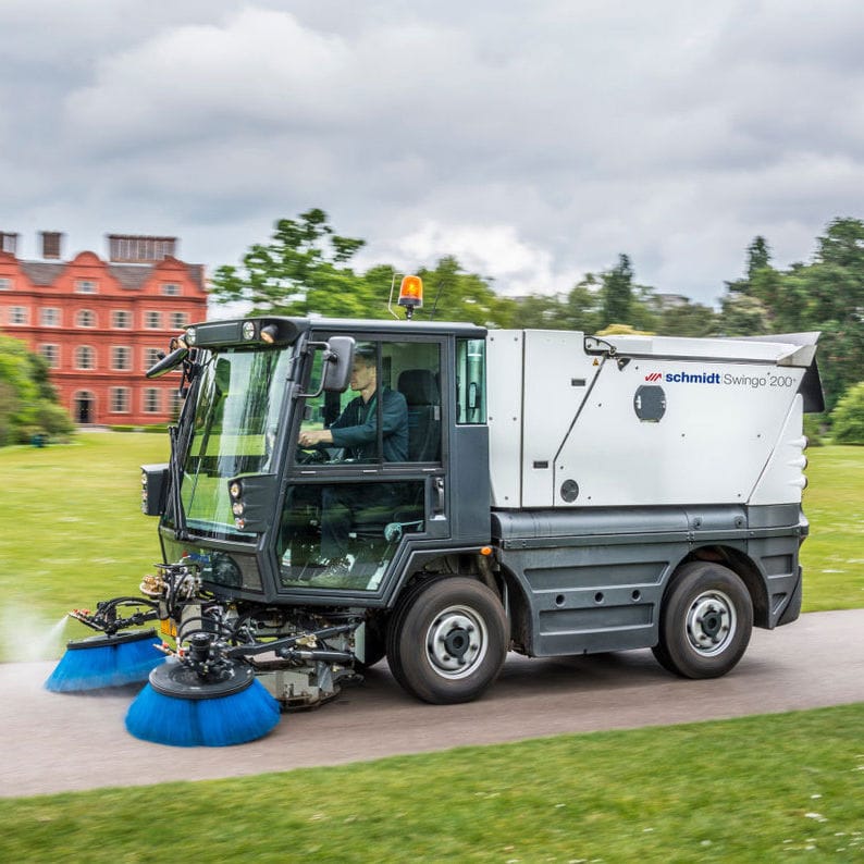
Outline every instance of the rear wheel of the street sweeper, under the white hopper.
<svg viewBox="0 0 864 864"><path fill-rule="evenodd" d="M658 663L683 678L719 678L744 654L753 630L753 603L728 567L690 561L672 578L663 602Z"/></svg>

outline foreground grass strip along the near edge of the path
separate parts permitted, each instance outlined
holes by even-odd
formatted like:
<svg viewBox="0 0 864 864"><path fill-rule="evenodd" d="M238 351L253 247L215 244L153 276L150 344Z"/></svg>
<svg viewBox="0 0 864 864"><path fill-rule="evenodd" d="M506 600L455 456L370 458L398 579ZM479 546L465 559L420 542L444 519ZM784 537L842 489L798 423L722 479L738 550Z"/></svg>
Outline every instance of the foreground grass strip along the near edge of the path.
<svg viewBox="0 0 864 864"><path fill-rule="evenodd" d="M864 860L864 705L0 801L14 862Z"/></svg>

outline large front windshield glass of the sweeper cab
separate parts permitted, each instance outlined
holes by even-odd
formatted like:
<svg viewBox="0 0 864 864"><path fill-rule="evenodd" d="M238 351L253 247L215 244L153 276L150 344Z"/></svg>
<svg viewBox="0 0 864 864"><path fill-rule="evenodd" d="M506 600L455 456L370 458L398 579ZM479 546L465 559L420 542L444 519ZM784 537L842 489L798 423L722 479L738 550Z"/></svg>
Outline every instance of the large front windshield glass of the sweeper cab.
<svg viewBox="0 0 864 864"><path fill-rule="evenodd" d="M273 470L273 443L292 349L227 349L200 372L181 498L189 531L254 540L234 524L227 480Z"/></svg>

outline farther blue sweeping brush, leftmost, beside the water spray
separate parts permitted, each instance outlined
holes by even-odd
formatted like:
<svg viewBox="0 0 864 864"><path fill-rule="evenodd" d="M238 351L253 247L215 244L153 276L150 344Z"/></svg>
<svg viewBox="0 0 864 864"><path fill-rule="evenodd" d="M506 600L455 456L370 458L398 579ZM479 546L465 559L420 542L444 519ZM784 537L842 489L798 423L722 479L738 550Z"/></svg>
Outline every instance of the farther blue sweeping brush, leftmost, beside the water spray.
<svg viewBox="0 0 864 864"><path fill-rule="evenodd" d="M160 642L152 629L67 642L66 653L45 682L46 690L70 693L146 681L150 670L165 659L156 647Z"/></svg>

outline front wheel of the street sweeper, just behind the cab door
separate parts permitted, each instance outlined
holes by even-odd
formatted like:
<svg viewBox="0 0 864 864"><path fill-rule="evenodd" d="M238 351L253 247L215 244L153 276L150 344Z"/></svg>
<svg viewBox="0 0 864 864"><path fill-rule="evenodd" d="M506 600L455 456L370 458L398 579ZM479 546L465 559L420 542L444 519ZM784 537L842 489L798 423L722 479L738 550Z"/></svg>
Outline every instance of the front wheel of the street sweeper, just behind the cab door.
<svg viewBox="0 0 864 864"><path fill-rule="evenodd" d="M433 704L470 702L507 656L498 596L476 579L421 582L400 601L387 630L387 663L409 693Z"/></svg>

